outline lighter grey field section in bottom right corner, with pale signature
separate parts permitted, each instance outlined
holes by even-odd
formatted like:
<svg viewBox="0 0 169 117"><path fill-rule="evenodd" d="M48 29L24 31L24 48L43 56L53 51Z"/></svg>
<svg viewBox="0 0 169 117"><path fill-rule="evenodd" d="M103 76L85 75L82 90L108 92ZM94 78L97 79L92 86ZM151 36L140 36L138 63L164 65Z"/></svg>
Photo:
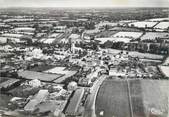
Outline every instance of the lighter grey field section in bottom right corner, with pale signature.
<svg viewBox="0 0 169 117"><path fill-rule="evenodd" d="M145 80L142 84L142 95L145 111L150 117L168 117L168 80ZM155 116L158 113L158 116ZM153 116L154 115L154 116Z"/></svg>

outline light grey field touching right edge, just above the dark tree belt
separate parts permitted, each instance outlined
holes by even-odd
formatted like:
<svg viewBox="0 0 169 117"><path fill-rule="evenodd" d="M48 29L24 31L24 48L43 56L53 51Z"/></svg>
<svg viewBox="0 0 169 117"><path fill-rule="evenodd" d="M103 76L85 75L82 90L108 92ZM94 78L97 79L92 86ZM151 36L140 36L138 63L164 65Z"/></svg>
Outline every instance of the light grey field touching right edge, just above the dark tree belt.
<svg viewBox="0 0 169 117"><path fill-rule="evenodd" d="M156 38L169 38L169 33L147 32L141 37L141 40L155 40Z"/></svg>

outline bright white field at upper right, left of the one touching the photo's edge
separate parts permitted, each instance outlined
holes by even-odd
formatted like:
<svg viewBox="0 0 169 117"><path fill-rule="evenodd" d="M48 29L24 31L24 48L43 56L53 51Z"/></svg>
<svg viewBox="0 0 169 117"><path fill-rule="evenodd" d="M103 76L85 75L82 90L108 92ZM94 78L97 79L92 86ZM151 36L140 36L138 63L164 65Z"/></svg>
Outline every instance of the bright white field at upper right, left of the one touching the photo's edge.
<svg viewBox="0 0 169 117"><path fill-rule="evenodd" d="M134 25L134 27L138 27L138 28L152 28L153 26L155 26L158 22L146 22L146 21L142 21L142 22L133 22L130 23L129 26Z"/></svg>

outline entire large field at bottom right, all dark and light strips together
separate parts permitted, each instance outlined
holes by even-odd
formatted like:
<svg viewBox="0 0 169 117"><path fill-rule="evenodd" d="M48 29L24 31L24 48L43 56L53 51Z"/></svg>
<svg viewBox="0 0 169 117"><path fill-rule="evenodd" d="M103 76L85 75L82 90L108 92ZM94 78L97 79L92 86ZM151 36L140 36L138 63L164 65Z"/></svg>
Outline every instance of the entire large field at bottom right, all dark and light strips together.
<svg viewBox="0 0 169 117"><path fill-rule="evenodd" d="M97 117L167 117L166 80L107 79L96 98Z"/></svg>

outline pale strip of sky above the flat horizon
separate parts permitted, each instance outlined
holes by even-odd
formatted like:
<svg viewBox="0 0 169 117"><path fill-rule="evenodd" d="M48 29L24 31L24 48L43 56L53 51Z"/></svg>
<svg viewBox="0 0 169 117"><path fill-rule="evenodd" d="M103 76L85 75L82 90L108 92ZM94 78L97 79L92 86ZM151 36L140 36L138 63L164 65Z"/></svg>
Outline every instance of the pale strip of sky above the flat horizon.
<svg viewBox="0 0 169 117"><path fill-rule="evenodd" d="M0 0L2 7L169 7L169 0Z"/></svg>

